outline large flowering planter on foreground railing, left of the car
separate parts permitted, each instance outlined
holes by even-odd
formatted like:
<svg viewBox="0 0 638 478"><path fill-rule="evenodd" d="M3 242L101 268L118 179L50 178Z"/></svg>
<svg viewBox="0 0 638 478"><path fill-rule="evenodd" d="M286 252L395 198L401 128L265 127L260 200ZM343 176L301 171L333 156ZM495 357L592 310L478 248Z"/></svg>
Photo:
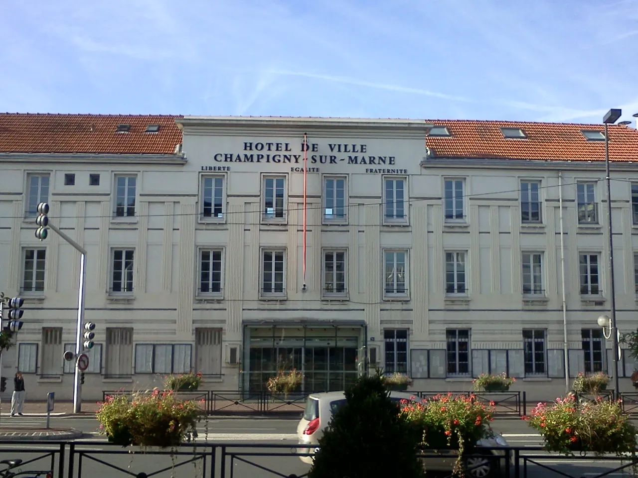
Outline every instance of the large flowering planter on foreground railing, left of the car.
<svg viewBox="0 0 638 478"><path fill-rule="evenodd" d="M96 418L109 442L166 448L181 444L188 434L197 437L200 413L192 400L178 400L173 391L154 389L145 396L107 396Z"/></svg>

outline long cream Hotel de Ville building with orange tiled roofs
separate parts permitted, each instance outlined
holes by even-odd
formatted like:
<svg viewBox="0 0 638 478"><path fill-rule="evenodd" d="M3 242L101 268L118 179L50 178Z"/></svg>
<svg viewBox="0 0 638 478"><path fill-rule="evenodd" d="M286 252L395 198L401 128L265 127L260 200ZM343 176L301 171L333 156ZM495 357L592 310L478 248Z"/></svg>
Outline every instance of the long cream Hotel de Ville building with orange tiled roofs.
<svg viewBox="0 0 638 478"><path fill-rule="evenodd" d="M70 398L62 355L79 257L54 233L34 237L34 208L47 201L50 220L87 249L97 338L85 398L191 370L207 389L258 391L296 368L304 390L334 390L377 367L437 391L505 372L528 397L552 398L578 372L613 368L597 326L611 307L601 131L72 115L0 128L0 290L26 300L3 375L22 371L33 399ZM610 140L628 331L638 133L612 126ZM628 389L625 353L619 369Z"/></svg>

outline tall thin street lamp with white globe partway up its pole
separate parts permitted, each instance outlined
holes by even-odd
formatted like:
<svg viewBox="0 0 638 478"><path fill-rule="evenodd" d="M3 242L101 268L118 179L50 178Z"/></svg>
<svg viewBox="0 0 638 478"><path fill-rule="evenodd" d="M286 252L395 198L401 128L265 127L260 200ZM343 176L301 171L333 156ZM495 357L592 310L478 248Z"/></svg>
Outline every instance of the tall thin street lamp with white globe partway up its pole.
<svg viewBox="0 0 638 478"><path fill-rule="evenodd" d="M612 108L605 114L602 122L605 124L605 179L607 180L607 233L609 233L609 273L611 274L611 317L609 317L609 335L612 336L614 348L614 396L616 400L619 398L619 386L618 386L618 326L616 324L616 284L614 282L614 235L611 229L611 178L609 177L609 124L614 124L618 121L622 110L619 108ZM598 324L605 322L604 317L598 317ZM601 320L602 319L602 320ZM603 333L604 333L603 328Z"/></svg>

